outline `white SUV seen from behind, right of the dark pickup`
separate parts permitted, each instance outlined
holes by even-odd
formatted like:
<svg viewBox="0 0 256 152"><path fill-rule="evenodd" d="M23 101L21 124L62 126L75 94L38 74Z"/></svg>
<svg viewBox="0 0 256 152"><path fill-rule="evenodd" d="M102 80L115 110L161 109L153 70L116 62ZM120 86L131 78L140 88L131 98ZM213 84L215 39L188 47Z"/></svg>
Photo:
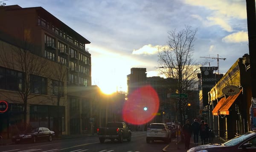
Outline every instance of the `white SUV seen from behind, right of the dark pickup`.
<svg viewBox="0 0 256 152"><path fill-rule="evenodd" d="M147 130L146 142L150 141L171 141L171 132L165 123L151 123Z"/></svg>

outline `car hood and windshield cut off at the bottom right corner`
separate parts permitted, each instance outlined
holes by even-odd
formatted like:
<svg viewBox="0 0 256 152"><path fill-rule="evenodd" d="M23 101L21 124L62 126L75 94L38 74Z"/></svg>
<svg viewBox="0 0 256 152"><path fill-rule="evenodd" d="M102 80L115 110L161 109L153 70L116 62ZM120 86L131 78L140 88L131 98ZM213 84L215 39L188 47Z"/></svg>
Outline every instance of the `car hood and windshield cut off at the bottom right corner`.
<svg viewBox="0 0 256 152"><path fill-rule="evenodd" d="M187 152L256 152L256 131L244 133L225 143L195 146Z"/></svg>

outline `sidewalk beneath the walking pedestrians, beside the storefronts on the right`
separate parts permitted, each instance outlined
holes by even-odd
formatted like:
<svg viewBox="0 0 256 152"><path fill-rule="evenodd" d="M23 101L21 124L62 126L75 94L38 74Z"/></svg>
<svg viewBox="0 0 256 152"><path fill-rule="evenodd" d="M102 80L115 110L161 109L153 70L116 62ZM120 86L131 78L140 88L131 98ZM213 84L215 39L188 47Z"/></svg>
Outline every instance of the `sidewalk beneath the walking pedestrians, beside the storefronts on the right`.
<svg viewBox="0 0 256 152"><path fill-rule="evenodd" d="M180 136L179 136L179 141L180 141ZM199 139L200 141L200 139ZM224 143L220 139L214 139L214 143ZM200 144L199 144L200 145ZM190 148L197 146L194 143L193 136L190 139ZM187 150L185 149L185 143L177 143L177 138L172 138L172 142L169 143L166 147L162 149L163 152L186 152Z"/></svg>

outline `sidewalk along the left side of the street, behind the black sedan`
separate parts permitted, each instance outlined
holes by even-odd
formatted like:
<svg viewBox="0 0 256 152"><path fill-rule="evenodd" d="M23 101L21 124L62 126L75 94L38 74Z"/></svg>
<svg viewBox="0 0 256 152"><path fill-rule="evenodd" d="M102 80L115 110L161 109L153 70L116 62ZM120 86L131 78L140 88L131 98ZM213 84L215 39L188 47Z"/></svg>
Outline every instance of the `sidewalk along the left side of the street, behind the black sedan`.
<svg viewBox="0 0 256 152"><path fill-rule="evenodd" d="M89 133L88 134L79 134L79 135L59 135L59 137L53 137L53 140L83 138L83 137L88 137L88 136L97 136L97 133L94 133L93 135L91 133L90 134ZM12 138L0 139L0 146L11 145L11 144L13 144Z"/></svg>

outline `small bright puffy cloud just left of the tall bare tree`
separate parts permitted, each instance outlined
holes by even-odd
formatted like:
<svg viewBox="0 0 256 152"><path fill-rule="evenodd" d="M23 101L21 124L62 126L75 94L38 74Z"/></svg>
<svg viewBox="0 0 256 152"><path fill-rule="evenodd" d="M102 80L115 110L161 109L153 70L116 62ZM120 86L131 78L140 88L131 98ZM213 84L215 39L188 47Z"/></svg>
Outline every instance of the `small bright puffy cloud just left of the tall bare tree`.
<svg viewBox="0 0 256 152"><path fill-rule="evenodd" d="M152 46L151 44L148 44L140 49L134 49L132 54L157 54L159 47L161 46Z"/></svg>

